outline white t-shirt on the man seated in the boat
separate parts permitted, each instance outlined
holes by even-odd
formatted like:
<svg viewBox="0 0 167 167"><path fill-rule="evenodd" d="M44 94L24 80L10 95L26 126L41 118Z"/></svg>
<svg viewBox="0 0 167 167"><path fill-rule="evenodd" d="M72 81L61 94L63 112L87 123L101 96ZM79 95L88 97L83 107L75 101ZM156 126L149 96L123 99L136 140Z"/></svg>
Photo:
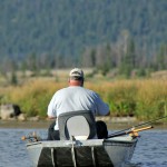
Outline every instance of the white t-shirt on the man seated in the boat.
<svg viewBox="0 0 167 167"><path fill-rule="evenodd" d="M109 107L95 91L80 86L70 86L53 95L48 106L48 116L58 118L62 112L77 110L91 110L94 116L105 116ZM59 129L57 121L55 129Z"/></svg>

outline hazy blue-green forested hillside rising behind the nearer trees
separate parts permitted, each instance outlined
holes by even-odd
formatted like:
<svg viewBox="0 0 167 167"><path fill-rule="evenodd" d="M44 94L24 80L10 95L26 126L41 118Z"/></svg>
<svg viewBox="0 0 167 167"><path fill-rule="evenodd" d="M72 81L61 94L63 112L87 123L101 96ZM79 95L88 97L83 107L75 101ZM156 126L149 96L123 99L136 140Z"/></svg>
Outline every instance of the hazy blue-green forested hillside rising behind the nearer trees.
<svg viewBox="0 0 167 167"><path fill-rule="evenodd" d="M167 42L167 0L1 0L0 57L79 57L128 31L148 53Z"/></svg>

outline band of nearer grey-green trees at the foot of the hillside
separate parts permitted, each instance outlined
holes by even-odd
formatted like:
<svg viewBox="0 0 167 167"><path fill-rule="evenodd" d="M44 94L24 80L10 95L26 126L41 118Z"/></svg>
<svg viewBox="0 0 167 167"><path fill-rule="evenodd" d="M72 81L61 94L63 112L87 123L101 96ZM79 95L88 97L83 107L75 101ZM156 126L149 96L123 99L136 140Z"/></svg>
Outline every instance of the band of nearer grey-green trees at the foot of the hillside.
<svg viewBox="0 0 167 167"><path fill-rule="evenodd" d="M112 71L116 76L130 78L147 77L153 71L167 69L167 45L161 45L158 52L151 57L147 57L144 50L137 50L136 48L135 40L129 33L124 32L115 43L87 47L77 63L68 57L51 57L50 55L38 57L36 53L31 53L23 61L2 59L0 71L6 77L8 72L11 72L11 80L14 84L17 82L16 71L22 71L23 73L26 70L32 71L35 76L50 76L51 69L78 66L92 68L91 75L101 72L102 76L107 76ZM45 72L41 73L41 70L45 70Z"/></svg>

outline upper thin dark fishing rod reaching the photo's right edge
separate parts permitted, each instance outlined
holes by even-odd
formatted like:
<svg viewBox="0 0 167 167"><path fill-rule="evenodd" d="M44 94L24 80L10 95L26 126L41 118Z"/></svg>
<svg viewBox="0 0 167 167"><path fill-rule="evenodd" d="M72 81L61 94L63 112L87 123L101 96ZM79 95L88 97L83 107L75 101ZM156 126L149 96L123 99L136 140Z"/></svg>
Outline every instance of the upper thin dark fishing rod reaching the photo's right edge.
<svg viewBox="0 0 167 167"><path fill-rule="evenodd" d="M145 125L149 125L149 124L151 124L151 122L156 122L157 120L160 120L160 119L164 119L164 118L167 118L167 116L159 117L159 118L157 118L157 119L149 120L149 121L146 121L146 122L143 122L143 124L132 126L131 128L127 128L127 129L124 129L124 130L114 132L114 134L109 135L108 138L117 137L117 136L122 136L122 135L126 135L126 134L130 134L130 132L131 132L135 128L137 128L137 127L145 126ZM153 128L153 127L151 127L151 128Z"/></svg>

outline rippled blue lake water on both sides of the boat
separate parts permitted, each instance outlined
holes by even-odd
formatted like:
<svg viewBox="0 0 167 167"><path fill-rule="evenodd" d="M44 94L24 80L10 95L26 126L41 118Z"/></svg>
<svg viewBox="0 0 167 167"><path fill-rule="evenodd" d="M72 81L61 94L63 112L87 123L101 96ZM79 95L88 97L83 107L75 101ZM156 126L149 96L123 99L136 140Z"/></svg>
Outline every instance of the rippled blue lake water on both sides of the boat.
<svg viewBox="0 0 167 167"><path fill-rule="evenodd" d="M21 137L32 129L0 129L0 167L32 167ZM35 129L42 138L46 129ZM147 130L136 146L128 167L167 167L167 130Z"/></svg>

